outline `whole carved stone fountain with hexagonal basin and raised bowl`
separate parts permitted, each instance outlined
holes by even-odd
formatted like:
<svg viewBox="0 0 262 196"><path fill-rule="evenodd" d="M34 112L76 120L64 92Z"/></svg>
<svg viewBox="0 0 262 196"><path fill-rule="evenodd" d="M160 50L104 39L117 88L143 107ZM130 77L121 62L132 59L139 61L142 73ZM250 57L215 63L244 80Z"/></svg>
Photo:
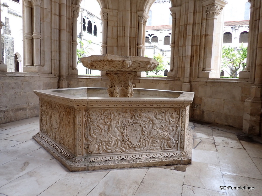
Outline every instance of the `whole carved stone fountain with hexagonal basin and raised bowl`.
<svg viewBox="0 0 262 196"><path fill-rule="evenodd" d="M106 54L81 61L106 71L110 84L34 91L40 132L33 138L41 146L70 171L191 163L194 93L133 89L137 71L157 66L151 58Z"/></svg>

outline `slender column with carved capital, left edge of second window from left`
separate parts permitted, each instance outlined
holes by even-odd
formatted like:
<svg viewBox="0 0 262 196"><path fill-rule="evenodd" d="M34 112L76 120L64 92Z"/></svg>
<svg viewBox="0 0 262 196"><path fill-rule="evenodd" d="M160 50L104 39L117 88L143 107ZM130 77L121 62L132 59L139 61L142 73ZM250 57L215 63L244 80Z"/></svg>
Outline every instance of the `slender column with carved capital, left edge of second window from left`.
<svg viewBox="0 0 262 196"><path fill-rule="evenodd" d="M79 5L71 5L73 12L73 24L72 24L72 70L77 70L77 18L79 15ZM75 75L78 74L73 73Z"/></svg>

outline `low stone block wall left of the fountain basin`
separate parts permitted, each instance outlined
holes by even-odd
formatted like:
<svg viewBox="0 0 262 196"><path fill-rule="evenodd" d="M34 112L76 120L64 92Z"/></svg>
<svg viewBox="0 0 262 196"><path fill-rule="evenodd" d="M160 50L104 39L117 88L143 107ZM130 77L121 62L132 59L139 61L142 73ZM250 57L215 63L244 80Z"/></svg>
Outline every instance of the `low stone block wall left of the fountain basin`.
<svg viewBox="0 0 262 196"><path fill-rule="evenodd" d="M0 73L0 124L39 115L33 90L56 89L58 79L48 74Z"/></svg>

